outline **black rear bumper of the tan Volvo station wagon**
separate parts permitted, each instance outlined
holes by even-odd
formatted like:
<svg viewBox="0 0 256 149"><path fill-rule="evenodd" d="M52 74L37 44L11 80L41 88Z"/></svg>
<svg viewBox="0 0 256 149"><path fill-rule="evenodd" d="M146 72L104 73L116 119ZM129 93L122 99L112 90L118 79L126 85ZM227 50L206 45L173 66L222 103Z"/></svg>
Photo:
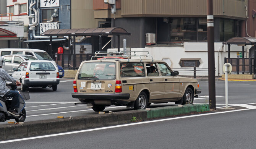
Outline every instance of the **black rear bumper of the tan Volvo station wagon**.
<svg viewBox="0 0 256 149"><path fill-rule="evenodd" d="M129 93L109 93L109 94L101 94L101 93L72 93L73 98L83 98L83 99L129 99Z"/></svg>

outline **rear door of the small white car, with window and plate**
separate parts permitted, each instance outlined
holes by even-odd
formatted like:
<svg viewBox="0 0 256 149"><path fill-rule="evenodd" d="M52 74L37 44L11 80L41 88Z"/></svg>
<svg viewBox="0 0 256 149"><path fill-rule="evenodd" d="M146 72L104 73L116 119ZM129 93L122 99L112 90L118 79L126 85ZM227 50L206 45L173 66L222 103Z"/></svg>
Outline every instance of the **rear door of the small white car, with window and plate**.
<svg viewBox="0 0 256 149"><path fill-rule="evenodd" d="M51 62L31 62L29 66L29 81L55 81L57 66Z"/></svg>

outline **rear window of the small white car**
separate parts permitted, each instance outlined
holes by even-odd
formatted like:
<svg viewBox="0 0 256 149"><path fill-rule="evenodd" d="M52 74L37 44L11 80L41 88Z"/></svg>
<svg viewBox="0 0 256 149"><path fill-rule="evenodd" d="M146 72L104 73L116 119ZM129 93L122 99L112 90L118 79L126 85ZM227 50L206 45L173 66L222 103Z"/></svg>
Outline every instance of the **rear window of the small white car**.
<svg viewBox="0 0 256 149"><path fill-rule="evenodd" d="M44 70L56 70L55 66L51 62L31 62L29 70L31 71L44 71Z"/></svg>

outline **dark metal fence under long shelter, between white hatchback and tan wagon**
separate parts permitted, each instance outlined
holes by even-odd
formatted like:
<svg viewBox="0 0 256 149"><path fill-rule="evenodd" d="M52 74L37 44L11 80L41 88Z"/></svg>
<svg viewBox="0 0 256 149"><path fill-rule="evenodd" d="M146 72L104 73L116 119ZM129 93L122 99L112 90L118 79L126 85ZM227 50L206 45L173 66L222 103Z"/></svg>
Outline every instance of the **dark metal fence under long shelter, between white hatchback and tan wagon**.
<svg viewBox="0 0 256 149"><path fill-rule="evenodd" d="M55 62L65 70L71 70L79 67L84 60L90 60L91 57L92 54L75 54L75 60L73 60L73 54L55 54Z"/></svg>

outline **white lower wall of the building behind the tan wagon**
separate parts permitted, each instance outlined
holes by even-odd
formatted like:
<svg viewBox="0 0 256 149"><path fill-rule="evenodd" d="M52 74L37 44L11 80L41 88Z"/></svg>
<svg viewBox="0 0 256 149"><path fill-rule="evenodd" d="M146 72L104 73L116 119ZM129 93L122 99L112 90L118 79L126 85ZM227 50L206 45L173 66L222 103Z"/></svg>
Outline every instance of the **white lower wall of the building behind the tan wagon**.
<svg viewBox="0 0 256 149"><path fill-rule="evenodd" d="M245 47L245 58L249 57L249 49L251 46ZM109 51L117 50L117 49L108 49ZM122 51L123 49L120 49ZM199 69L198 70L207 70L200 68L208 68L208 52L207 52L207 42L185 42L183 46L150 46L145 48L131 48L131 51L149 51L149 55L152 55L154 60L170 60L170 67L173 70L181 70L182 68L179 65L181 58L199 58ZM223 73L222 67L224 65L224 58L228 57L228 45L223 45L222 42L215 42L214 44L214 58L215 58L215 76L221 76ZM242 47L237 45L230 46L230 58L236 58L237 52L241 52ZM138 58L138 57L137 57ZM150 57L146 57L149 59ZM176 69L174 69L176 68ZM191 68L183 67L182 70L190 70L190 71L180 71L180 75L184 76L193 76L191 72ZM181 72L187 72L186 74L182 74ZM198 72L198 71L197 71ZM208 76L208 71L202 71L203 73L196 74L197 76Z"/></svg>

